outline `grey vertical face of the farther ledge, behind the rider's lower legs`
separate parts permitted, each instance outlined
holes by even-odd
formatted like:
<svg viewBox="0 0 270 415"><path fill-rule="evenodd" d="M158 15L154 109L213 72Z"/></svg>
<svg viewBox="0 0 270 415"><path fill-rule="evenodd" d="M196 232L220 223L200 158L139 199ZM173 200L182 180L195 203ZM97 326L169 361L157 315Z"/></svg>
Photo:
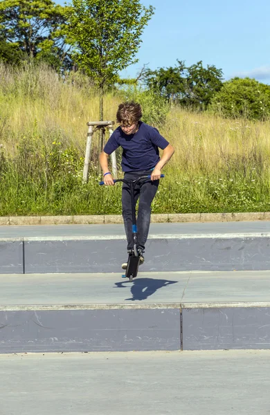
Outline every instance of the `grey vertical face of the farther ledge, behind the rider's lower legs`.
<svg viewBox="0 0 270 415"><path fill-rule="evenodd" d="M270 234L150 235L143 271L269 270ZM0 274L120 273L124 235L2 238Z"/></svg>

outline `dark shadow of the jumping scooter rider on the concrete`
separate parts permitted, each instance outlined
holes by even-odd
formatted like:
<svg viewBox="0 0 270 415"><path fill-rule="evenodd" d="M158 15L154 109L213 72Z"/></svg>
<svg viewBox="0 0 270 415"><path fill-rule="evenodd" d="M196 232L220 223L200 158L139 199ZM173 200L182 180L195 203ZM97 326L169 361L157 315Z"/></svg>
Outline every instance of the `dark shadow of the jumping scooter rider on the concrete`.
<svg viewBox="0 0 270 415"><path fill-rule="evenodd" d="M132 298L126 298L125 301L143 300L156 293L159 288L167 287L171 284L176 284L177 281L169 281L168 279L153 279L153 278L138 278L133 280L131 288ZM130 284L129 281L116 282L117 288L124 288Z"/></svg>

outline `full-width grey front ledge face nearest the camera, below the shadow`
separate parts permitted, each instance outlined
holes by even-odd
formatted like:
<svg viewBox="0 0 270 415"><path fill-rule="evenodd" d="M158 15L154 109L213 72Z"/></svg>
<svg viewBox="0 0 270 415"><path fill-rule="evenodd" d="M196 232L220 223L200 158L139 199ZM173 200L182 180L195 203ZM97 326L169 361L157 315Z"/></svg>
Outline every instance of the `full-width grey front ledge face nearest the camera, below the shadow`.
<svg viewBox="0 0 270 415"><path fill-rule="evenodd" d="M0 308L0 353L270 349L269 303Z"/></svg>

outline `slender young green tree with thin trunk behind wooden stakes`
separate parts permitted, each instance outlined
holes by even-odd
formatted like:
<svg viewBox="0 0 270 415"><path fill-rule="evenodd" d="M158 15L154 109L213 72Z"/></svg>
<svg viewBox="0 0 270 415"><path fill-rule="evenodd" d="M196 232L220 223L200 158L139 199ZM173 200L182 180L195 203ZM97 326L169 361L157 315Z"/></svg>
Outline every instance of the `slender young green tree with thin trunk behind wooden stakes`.
<svg viewBox="0 0 270 415"><path fill-rule="evenodd" d="M73 0L66 10L67 42L75 48L73 59L96 81L103 120L105 86L118 81L118 72L134 59L144 27L154 13L139 0ZM100 142L102 145L102 142Z"/></svg>

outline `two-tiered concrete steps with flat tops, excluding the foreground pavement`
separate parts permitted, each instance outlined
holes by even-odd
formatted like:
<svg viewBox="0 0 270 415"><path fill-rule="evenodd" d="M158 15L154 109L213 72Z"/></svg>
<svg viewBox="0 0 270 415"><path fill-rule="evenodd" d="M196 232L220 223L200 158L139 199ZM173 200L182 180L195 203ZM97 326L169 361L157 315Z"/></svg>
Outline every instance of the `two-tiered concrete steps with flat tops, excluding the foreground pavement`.
<svg viewBox="0 0 270 415"><path fill-rule="evenodd" d="M0 228L0 353L270 349L270 222Z"/></svg>

